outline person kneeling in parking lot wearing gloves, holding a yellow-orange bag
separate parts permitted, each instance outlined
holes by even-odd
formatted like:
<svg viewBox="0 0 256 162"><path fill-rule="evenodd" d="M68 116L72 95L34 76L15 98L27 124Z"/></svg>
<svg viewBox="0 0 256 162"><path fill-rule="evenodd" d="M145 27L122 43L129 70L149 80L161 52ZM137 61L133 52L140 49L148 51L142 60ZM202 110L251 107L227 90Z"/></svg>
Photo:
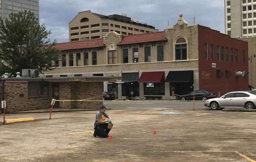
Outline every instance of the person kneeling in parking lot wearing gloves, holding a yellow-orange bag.
<svg viewBox="0 0 256 162"><path fill-rule="evenodd" d="M102 105L100 107L100 111L97 112L96 114L95 123L94 123L94 133L93 133L94 137L96 136L103 137L103 138L108 137L108 133L113 126L111 122L111 117L107 115L105 110L106 110L106 107ZM106 118L108 118L108 120L105 120Z"/></svg>

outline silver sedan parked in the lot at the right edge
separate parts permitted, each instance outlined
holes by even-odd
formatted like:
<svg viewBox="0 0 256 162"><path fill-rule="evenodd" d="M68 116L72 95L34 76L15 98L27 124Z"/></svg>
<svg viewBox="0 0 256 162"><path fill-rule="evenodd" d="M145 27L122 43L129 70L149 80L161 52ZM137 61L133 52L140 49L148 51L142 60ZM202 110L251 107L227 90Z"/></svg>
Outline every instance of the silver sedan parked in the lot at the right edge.
<svg viewBox="0 0 256 162"><path fill-rule="evenodd" d="M220 98L207 99L204 106L217 110L226 107L245 107L254 109L256 104L256 93L253 91L229 92Z"/></svg>

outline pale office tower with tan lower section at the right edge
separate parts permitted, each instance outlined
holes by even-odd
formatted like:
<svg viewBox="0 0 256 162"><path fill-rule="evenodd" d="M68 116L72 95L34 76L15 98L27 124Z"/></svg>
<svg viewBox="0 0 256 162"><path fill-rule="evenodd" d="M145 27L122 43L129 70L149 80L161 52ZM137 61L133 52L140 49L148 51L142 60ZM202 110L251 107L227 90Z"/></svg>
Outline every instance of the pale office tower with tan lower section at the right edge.
<svg viewBox="0 0 256 162"><path fill-rule="evenodd" d="M249 85L256 88L256 0L224 0L225 34L248 42Z"/></svg>

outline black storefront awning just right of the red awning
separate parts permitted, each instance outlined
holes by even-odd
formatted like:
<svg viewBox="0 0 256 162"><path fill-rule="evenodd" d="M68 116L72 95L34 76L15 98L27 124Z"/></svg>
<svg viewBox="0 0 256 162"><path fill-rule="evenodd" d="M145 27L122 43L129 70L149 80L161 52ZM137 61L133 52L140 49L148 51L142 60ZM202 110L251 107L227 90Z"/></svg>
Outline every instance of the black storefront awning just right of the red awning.
<svg viewBox="0 0 256 162"><path fill-rule="evenodd" d="M193 70L187 71L169 71L165 82L170 83L186 83L194 79Z"/></svg>

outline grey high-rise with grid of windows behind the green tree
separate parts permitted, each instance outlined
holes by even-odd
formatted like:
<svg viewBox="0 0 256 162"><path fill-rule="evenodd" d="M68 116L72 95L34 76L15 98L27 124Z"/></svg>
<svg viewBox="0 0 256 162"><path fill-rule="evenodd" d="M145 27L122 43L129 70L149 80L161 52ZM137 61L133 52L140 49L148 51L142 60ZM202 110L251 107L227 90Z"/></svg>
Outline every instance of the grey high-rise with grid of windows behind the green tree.
<svg viewBox="0 0 256 162"><path fill-rule="evenodd" d="M10 13L30 10L39 19L39 0L0 0L1 18L9 18Z"/></svg>

